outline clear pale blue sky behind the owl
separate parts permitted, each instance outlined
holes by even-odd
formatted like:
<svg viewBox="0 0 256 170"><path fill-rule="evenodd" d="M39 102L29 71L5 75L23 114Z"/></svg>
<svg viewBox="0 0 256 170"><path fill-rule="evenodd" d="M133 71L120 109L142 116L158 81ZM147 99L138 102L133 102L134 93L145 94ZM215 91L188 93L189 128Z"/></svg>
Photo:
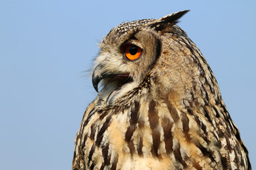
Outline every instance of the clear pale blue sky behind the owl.
<svg viewBox="0 0 256 170"><path fill-rule="evenodd" d="M71 169L97 43L123 21L178 23L210 64L256 168L256 1L0 0L0 169Z"/></svg>

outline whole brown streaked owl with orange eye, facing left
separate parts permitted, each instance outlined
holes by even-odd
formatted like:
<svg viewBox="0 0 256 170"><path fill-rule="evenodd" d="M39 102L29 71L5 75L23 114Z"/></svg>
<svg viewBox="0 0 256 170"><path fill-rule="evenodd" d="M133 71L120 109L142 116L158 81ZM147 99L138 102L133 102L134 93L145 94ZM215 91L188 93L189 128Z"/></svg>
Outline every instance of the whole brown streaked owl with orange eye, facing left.
<svg viewBox="0 0 256 170"><path fill-rule="evenodd" d="M75 137L78 169L251 169L209 64L176 23L124 22L92 68L97 97Z"/></svg>

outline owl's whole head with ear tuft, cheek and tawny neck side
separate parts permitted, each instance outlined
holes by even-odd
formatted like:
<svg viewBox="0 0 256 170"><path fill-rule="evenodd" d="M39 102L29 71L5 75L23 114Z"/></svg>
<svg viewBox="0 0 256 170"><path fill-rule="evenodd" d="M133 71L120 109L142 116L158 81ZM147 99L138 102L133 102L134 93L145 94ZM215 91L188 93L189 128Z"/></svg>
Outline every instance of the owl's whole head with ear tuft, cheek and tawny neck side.
<svg viewBox="0 0 256 170"><path fill-rule="evenodd" d="M144 19L121 23L100 42L100 52L92 68L92 84L109 106L131 91L151 90L156 95L178 93L186 96L199 75L208 69L196 45L176 23L188 11L158 20ZM199 61L199 62L200 62ZM143 93L143 90L142 90ZM188 93L188 94L187 94ZM160 96L160 95L159 95ZM161 96L164 96L161 95Z"/></svg>

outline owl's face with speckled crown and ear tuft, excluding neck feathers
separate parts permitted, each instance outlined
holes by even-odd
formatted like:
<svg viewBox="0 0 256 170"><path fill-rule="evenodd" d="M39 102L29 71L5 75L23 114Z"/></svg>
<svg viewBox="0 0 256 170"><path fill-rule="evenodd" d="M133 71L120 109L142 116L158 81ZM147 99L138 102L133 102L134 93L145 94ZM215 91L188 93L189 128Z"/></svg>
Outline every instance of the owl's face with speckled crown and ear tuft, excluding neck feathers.
<svg viewBox="0 0 256 170"><path fill-rule="evenodd" d="M114 104L117 98L143 84L161 56L161 36L174 31L172 26L186 12L174 13L159 20L122 23L110 30L100 43L100 53L92 74L96 91L98 84L102 84L99 96L107 105Z"/></svg>

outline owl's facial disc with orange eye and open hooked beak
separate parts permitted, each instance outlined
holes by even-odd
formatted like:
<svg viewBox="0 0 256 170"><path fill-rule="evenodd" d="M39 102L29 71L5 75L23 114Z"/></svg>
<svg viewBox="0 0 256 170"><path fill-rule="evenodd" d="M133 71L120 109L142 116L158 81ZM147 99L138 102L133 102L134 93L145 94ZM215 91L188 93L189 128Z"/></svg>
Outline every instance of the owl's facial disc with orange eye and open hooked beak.
<svg viewBox="0 0 256 170"><path fill-rule="evenodd" d="M92 75L96 90L97 84L102 82L101 94L107 97L107 103L119 96L121 91L125 94L139 86L161 50L161 43L152 28L130 28L114 40L112 37L117 29L111 30L102 40Z"/></svg>

